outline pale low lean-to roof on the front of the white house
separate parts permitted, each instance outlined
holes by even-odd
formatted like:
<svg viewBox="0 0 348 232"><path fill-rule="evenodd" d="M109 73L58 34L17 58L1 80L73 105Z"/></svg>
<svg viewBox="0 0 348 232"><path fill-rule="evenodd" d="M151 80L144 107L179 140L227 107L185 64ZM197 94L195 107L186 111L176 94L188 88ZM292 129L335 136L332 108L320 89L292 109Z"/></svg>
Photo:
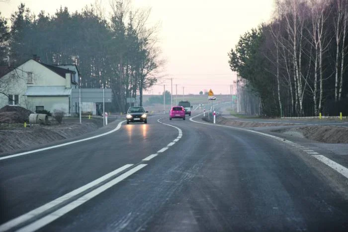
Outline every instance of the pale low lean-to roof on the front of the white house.
<svg viewBox="0 0 348 232"><path fill-rule="evenodd" d="M70 96L71 88L65 86L28 86L25 96Z"/></svg>

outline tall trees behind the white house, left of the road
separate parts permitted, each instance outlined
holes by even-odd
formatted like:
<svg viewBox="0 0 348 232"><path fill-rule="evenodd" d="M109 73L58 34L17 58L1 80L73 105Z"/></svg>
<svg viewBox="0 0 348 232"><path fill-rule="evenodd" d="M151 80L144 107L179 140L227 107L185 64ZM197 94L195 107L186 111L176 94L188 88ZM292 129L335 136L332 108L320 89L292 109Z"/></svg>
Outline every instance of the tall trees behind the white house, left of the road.
<svg viewBox="0 0 348 232"><path fill-rule="evenodd" d="M110 9L108 19L100 5L35 15L21 3L9 19L0 15L1 65L15 67L33 54L46 64L76 64L82 88L112 89L114 110L123 112L127 97L137 94L142 104L164 63L157 26L147 26L150 10L130 1L112 0Z"/></svg>

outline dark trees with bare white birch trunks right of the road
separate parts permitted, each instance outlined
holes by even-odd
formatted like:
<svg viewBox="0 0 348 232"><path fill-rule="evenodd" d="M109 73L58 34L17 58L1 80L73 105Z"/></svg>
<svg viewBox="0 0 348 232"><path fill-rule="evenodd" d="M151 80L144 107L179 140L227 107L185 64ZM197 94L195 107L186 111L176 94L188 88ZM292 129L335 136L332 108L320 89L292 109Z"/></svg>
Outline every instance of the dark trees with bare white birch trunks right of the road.
<svg viewBox="0 0 348 232"><path fill-rule="evenodd" d="M228 53L265 116L348 114L348 0L276 0Z"/></svg>

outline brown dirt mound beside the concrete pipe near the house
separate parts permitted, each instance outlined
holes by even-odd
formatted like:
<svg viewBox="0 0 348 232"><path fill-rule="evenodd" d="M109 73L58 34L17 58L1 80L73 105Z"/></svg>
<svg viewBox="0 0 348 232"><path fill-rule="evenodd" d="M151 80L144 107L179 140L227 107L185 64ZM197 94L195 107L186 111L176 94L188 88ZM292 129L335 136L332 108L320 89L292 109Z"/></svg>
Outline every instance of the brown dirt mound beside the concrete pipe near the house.
<svg viewBox="0 0 348 232"><path fill-rule="evenodd" d="M0 123L24 123L29 121L29 115L32 114L20 106L6 105L0 109Z"/></svg>

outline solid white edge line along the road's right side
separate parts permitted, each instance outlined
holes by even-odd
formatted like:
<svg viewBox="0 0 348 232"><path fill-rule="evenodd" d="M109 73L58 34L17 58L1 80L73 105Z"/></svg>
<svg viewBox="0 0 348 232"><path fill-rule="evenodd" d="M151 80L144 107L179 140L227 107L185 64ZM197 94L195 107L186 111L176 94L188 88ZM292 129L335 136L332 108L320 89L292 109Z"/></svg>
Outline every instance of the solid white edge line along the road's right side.
<svg viewBox="0 0 348 232"><path fill-rule="evenodd" d="M273 136L273 135L264 134L264 133L261 133L259 131L253 131L253 130L248 130L248 129L244 129L244 128L238 128L238 127L231 127L231 126L225 126L225 125L217 125L217 124L211 124L211 123L204 123L204 122L194 121L193 119L198 117L199 115L202 115L202 114L197 114L196 116L190 118L190 121L191 122L195 122L195 123L209 125L209 126L227 127L227 128L232 128L232 129L235 129L235 130L240 130L240 131L248 131L248 132L251 132L251 133L255 133L255 134L263 135L263 136L266 136L266 137L270 137L270 138L276 139L276 140L281 141L281 142L286 142L282 138L279 138L279 137L276 137L276 136ZM344 175L346 178L348 178L348 168L346 168L346 167L342 166L341 164L339 164L339 163L337 163L337 162L327 158L324 155L311 155L311 156L316 157L318 160L320 160L323 163L327 164L328 166L334 168L336 171L338 171L339 173ZM325 160L325 161L323 161L323 160ZM331 165L329 165L328 163L331 164ZM340 169L341 171L337 169L338 167L341 168Z"/></svg>

